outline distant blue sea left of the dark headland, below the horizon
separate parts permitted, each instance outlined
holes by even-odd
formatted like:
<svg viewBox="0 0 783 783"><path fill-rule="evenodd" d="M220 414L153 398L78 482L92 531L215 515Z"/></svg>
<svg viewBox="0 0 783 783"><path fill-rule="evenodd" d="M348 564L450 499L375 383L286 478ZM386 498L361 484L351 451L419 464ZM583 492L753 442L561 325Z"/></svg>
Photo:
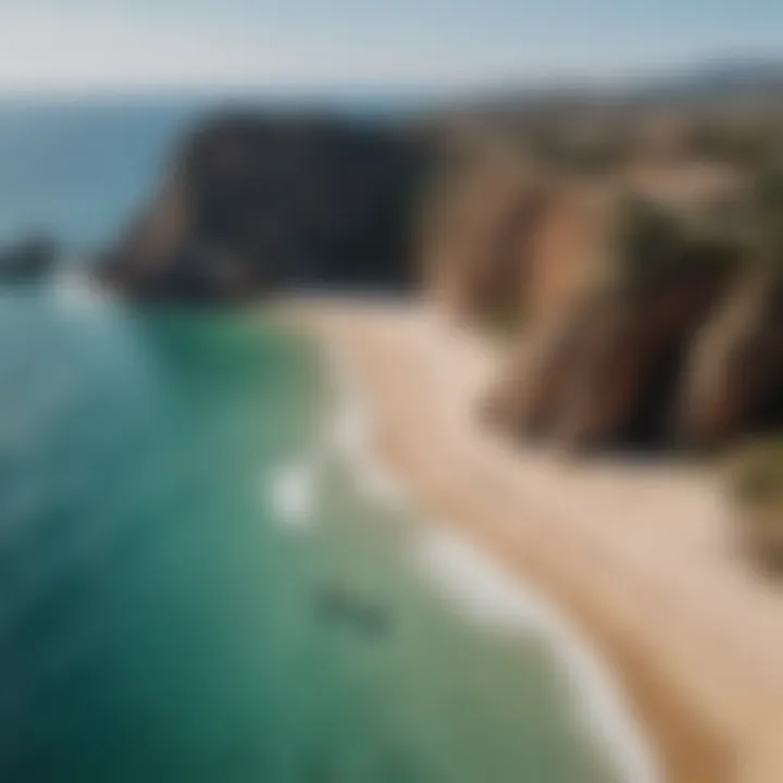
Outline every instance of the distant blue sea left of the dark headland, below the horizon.
<svg viewBox="0 0 783 783"><path fill-rule="evenodd" d="M113 238L149 197L204 101L0 99L0 243L51 234L71 253Z"/></svg>

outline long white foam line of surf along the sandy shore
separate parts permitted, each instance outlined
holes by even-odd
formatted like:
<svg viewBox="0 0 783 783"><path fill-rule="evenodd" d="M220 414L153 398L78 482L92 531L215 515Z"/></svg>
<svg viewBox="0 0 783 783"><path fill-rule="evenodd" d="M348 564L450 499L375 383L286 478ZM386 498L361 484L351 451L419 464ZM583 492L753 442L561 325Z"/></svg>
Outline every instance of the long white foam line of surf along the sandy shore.
<svg viewBox="0 0 783 783"><path fill-rule="evenodd" d="M417 513L410 495L373 451L371 414L359 398L345 356L337 346L330 346L328 355L339 402L335 446L373 497ZM626 783L662 780L655 756L610 672L542 594L518 574L512 577L457 535L447 533L445 525L422 525L414 555L435 586L457 600L472 621L548 639L572 686L575 714L585 732L604 745L622 779Z"/></svg>

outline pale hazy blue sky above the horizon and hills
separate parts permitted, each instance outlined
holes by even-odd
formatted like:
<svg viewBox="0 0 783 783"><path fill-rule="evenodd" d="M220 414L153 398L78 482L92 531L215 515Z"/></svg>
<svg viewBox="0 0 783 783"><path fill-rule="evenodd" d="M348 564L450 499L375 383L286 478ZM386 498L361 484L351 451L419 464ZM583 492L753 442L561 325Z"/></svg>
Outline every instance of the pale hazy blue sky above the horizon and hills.
<svg viewBox="0 0 783 783"><path fill-rule="evenodd" d="M783 0L0 0L0 89L475 87L783 54Z"/></svg>

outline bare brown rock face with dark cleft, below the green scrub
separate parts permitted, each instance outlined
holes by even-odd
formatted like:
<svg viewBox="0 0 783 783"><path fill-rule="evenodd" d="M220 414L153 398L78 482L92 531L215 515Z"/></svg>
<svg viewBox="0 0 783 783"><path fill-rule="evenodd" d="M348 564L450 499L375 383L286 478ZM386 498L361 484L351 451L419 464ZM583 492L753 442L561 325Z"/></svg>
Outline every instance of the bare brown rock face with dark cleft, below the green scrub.
<svg viewBox="0 0 783 783"><path fill-rule="evenodd" d="M500 419L518 436L576 450L673 443L691 341L730 281L724 263L587 293L501 381Z"/></svg>

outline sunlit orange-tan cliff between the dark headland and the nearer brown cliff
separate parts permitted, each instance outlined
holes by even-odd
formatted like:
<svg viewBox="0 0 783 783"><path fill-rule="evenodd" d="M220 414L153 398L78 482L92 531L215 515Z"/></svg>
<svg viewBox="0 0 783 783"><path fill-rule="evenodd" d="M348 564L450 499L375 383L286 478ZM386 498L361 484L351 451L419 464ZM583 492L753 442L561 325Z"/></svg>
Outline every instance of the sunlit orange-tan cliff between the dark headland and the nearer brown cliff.
<svg viewBox="0 0 783 783"><path fill-rule="evenodd" d="M419 247L425 289L476 323L550 320L604 254L612 185L543 163L513 133L470 130L436 148Z"/></svg>

